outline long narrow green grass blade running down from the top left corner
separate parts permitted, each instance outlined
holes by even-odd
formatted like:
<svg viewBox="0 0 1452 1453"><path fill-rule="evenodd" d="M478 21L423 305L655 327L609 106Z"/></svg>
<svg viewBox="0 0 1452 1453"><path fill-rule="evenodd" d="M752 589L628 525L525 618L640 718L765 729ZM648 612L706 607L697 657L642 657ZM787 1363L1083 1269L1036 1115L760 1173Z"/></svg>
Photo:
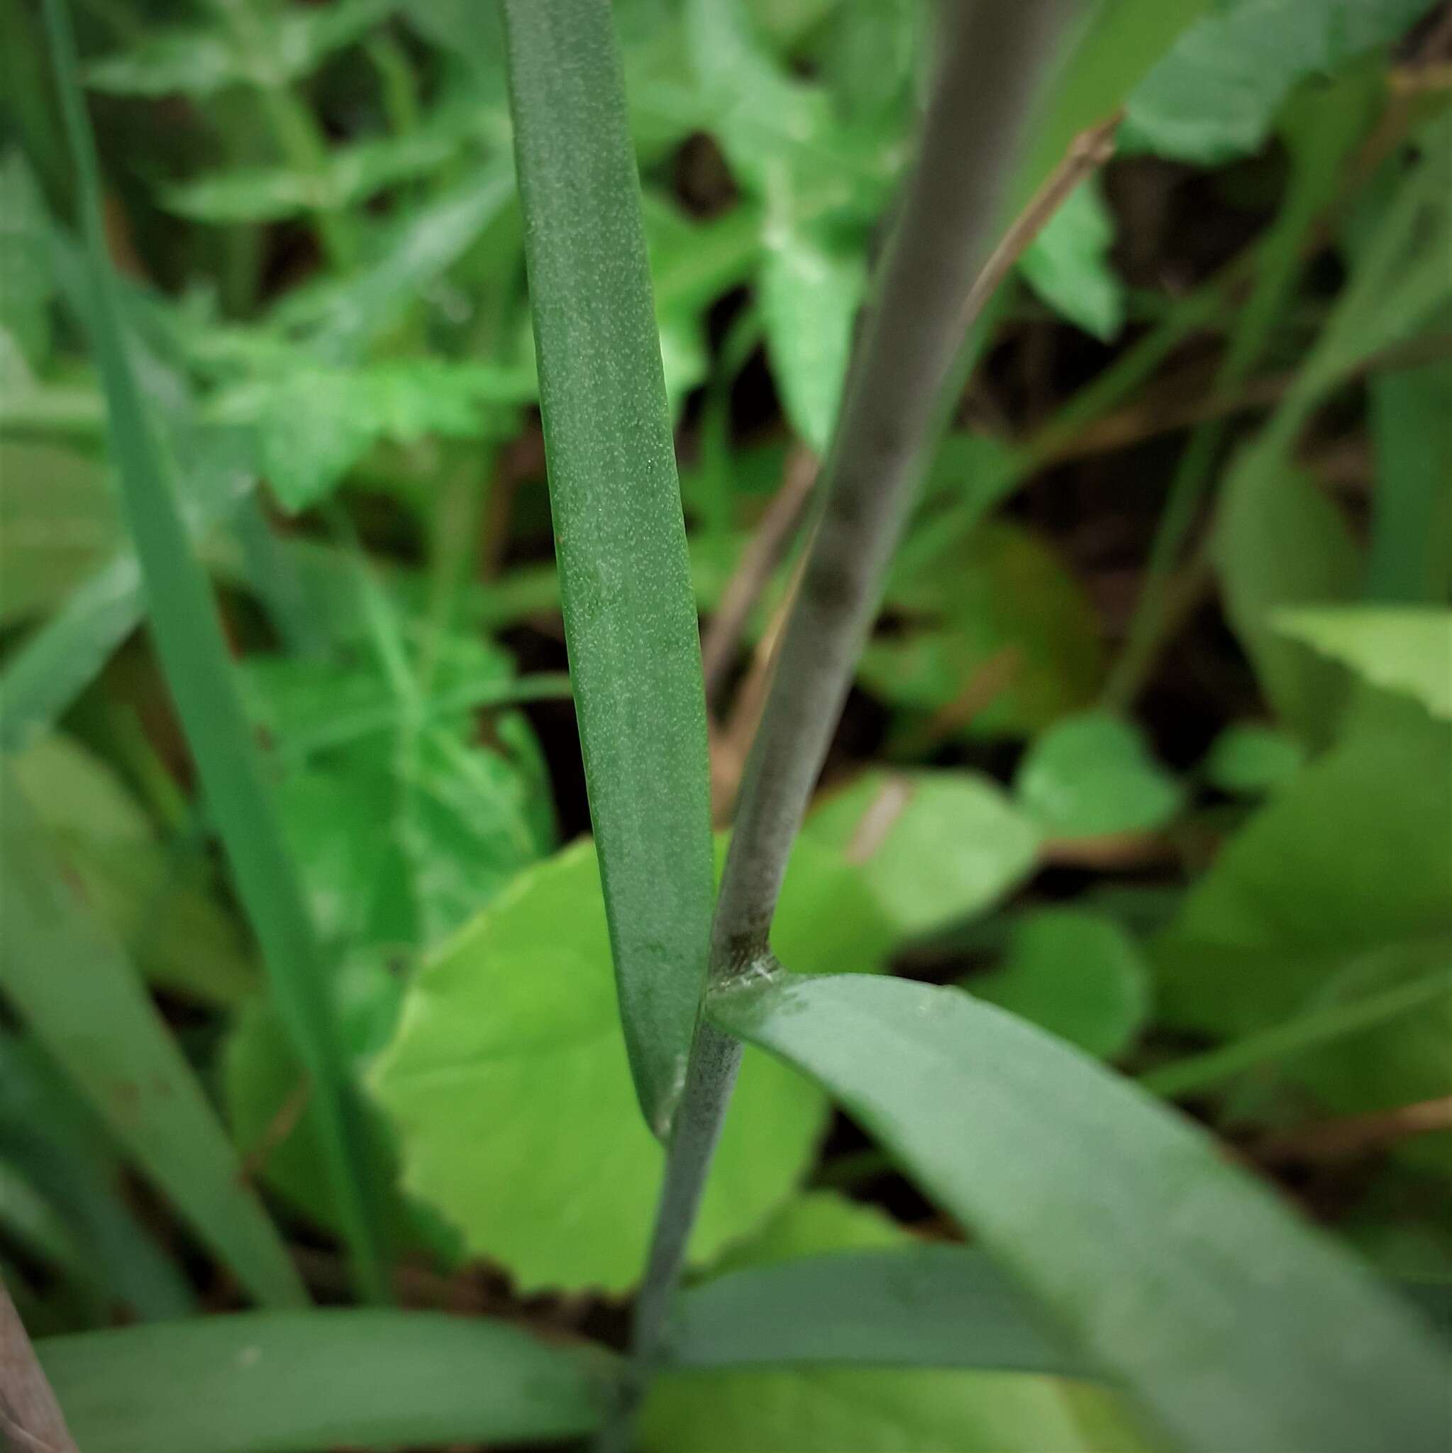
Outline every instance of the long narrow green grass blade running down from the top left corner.
<svg viewBox="0 0 1452 1453"><path fill-rule="evenodd" d="M287 860L248 732L221 622L192 554L168 462L142 402L106 254L94 142L77 80L64 0L46 0L61 108L80 179L90 327L109 408L122 504L141 559L151 628L173 700L247 910L277 1008L312 1080L324 1155L359 1284L386 1293L378 1218L366 1173L364 1126L333 1023L324 963Z"/></svg>

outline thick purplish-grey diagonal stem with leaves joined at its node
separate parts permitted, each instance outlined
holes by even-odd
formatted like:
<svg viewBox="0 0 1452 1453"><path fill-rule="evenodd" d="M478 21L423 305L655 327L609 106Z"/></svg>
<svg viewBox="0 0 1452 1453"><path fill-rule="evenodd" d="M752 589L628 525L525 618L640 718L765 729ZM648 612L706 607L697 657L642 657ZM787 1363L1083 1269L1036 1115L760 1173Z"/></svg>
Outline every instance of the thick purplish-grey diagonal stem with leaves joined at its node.
<svg viewBox="0 0 1452 1453"><path fill-rule="evenodd" d="M993 241L987 219L1012 174L1041 64L1069 13L1061 0L1012 9L953 0L941 9L941 73L849 373L823 468L822 514L746 769L711 924L714 988L772 962L771 920L791 843L926 464L939 391L958 349L958 311ZM635 1407L659 1363L739 1064L735 1040L697 1026L636 1309L632 1385L603 1450L627 1446Z"/></svg>

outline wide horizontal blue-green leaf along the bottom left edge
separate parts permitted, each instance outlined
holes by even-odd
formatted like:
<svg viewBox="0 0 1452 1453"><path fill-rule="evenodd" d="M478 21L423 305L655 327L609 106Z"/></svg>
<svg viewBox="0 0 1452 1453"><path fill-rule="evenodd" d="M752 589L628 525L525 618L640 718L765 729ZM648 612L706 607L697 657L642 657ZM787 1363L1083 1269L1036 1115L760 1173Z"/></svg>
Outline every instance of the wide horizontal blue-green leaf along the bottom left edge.
<svg viewBox="0 0 1452 1453"><path fill-rule="evenodd" d="M86 1453L328 1453L594 1431L611 1364L482 1318L263 1312L42 1340Z"/></svg>

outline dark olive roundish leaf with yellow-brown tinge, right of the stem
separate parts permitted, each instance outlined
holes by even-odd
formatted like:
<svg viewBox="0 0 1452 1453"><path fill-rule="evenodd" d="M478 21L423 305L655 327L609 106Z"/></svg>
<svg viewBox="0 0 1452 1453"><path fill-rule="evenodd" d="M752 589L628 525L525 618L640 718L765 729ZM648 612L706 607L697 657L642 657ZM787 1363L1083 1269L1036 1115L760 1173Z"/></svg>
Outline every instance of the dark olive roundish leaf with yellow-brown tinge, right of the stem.
<svg viewBox="0 0 1452 1453"><path fill-rule="evenodd" d="M1031 735L1088 706L1099 684L1093 607L1054 552L1016 525L986 523L931 568L897 570L887 606L900 629L868 642L862 684L893 705L953 715L992 681L957 731Z"/></svg>

